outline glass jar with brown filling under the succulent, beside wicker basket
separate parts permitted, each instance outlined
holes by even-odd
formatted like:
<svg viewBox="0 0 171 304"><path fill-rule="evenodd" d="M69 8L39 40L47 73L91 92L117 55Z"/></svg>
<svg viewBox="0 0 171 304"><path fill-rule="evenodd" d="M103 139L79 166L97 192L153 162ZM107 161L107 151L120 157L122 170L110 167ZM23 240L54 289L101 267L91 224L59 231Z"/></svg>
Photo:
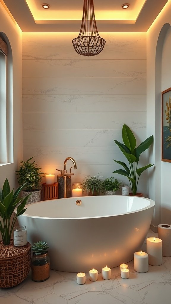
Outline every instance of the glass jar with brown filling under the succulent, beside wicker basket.
<svg viewBox="0 0 171 304"><path fill-rule="evenodd" d="M31 260L31 278L35 282L42 282L50 276L50 258L48 252L36 255L33 252Z"/></svg>

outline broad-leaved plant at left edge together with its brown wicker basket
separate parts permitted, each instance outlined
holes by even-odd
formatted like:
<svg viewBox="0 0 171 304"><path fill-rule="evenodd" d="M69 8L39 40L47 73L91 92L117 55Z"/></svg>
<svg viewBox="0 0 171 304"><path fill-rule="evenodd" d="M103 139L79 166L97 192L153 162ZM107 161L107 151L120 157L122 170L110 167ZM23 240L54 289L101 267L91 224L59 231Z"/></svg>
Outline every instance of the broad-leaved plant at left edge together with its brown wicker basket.
<svg viewBox="0 0 171 304"><path fill-rule="evenodd" d="M6 178L0 191L0 288L9 288L20 284L28 275L31 267L31 246L14 247L11 235L17 217L26 211L25 205L29 195L19 199L19 193L25 187L10 191ZM16 212L14 213L14 209ZM22 248L22 249L20 249ZM21 258L21 254L23 258ZM19 267L20 266L20 267Z"/></svg>

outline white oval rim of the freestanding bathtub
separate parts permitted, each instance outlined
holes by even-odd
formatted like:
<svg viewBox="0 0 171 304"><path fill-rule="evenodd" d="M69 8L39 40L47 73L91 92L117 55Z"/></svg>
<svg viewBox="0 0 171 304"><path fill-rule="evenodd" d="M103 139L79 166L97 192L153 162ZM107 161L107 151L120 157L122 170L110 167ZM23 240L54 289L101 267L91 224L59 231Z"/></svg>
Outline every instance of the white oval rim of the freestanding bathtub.
<svg viewBox="0 0 171 304"><path fill-rule="evenodd" d="M98 195L96 195L98 196ZM110 197L113 197L113 195L108 195ZM118 197L118 196L121 196L121 195L115 195L115 197ZM76 198L71 198L71 197L68 197L68 198L65 198L64 200L68 200L68 199L81 199L81 198L84 198L84 197L88 197L88 196L82 196L82 197L76 197ZM106 195L100 195L100 197L105 197L106 198ZM146 209L149 209L149 208L152 208L155 206L155 201L152 200L152 199L148 199L146 197L137 197L137 196L133 196L131 195L131 198L135 197L136 199L145 199L147 201L149 201L149 205L144 207L144 208L141 208L141 209L137 209L137 210L134 210L134 211L130 211L130 212L124 212L124 213L118 213L118 214L109 214L109 215L104 215L104 216L89 216L89 217L44 217L44 216L33 216L33 215L30 215L30 214L27 214L26 211L21 214L21 216L25 216L25 217L30 217L30 218L34 218L34 219L62 219L62 220L72 220L72 219L98 219L98 218L104 218L104 217L113 217L113 216L122 216L122 215L127 215L127 214L131 214L131 213L136 213L136 212L141 212L143 210L146 210ZM91 196L90 196L91 198ZM52 201L58 201L58 199L53 199ZM63 199L60 199L60 200L63 200ZM49 200L45 200L45 201L40 201L40 202L35 202L35 203L32 203L32 204L29 204L28 206L32 206L32 205L35 205L35 204L40 204L41 202L49 202ZM27 207L27 205L25 206ZM14 212L16 213L16 209L14 210Z"/></svg>

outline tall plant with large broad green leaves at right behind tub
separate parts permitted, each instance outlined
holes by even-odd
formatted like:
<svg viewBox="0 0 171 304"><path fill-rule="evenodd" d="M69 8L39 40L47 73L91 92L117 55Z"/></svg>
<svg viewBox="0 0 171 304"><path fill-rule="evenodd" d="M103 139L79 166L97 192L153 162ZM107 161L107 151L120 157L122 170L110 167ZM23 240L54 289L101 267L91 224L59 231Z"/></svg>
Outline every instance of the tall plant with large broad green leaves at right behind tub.
<svg viewBox="0 0 171 304"><path fill-rule="evenodd" d="M147 150L150 145L153 143L153 135L148 137L145 141L143 141L137 148L136 148L136 138L132 133L131 129L127 125L123 125L122 128L122 140L124 142L120 143L117 140L114 142L123 152L124 156L127 158L129 162L129 167L122 161L116 161L120 164L125 170L119 169L114 171L113 173L118 173L124 176L127 176L131 186L131 192L133 195L137 194L137 186L139 177L147 168L152 167L152 164L148 164L145 167L138 168L139 157L142 152Z"/></svg>

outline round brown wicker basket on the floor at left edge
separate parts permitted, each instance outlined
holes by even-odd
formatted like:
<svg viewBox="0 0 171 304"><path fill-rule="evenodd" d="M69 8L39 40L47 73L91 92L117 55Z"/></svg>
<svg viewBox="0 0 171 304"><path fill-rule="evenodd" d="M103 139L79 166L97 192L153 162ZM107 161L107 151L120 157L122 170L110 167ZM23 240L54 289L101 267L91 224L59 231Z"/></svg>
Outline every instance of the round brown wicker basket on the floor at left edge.
<svg viewBox="0 0 171 304"><path fill-rule="evenodd" d="M15 247L0 241L0 288L9 288L23 282L31 268L31 244Z"/></svg>

